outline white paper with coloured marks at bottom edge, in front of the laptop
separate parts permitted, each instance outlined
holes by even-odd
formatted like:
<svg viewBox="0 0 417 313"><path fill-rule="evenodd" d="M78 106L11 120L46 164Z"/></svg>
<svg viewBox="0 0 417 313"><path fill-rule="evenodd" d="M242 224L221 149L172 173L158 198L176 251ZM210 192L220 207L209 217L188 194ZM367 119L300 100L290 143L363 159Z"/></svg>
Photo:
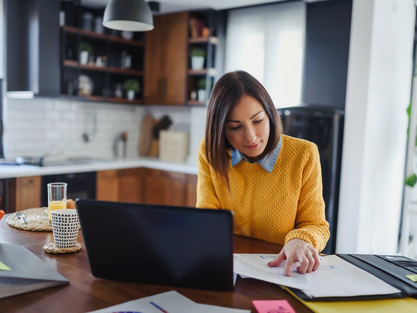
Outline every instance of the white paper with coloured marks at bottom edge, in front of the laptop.
<svg viewBox="0 0 417 313"><path fill-rule="evenodd" d="M111 312L141 312L141 313L250 313L251 310L223 308L208 304L196 303L176 291L167 291L157 295L128 301L90 313Z"/></svg>

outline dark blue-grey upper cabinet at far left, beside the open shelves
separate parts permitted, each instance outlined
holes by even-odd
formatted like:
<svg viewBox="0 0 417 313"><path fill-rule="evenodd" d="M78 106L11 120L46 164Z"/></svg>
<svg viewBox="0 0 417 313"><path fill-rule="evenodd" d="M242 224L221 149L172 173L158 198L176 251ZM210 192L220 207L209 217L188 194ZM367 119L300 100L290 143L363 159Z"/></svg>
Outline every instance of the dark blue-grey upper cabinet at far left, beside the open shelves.
<svg viewBox="0 0 417 313"><path fill-rule="evenodd" d="M58 96L59 1L6 0L7 91Z"/></svg>

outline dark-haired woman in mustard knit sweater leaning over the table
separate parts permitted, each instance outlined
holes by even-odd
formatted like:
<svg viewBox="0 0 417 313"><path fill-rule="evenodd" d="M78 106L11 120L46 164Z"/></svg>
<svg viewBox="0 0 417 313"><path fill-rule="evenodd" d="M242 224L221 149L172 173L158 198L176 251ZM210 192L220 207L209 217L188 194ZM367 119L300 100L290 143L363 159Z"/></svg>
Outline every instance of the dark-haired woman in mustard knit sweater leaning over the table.
<svg viewBox="0 0 417 313"><path fill-rule="evenodd" d="M253 76L214 85L198 151L197 208L234 212L235 234L284 245L269 266L317 270L329 239L317 146L282 133L271 97Z"/></svg>

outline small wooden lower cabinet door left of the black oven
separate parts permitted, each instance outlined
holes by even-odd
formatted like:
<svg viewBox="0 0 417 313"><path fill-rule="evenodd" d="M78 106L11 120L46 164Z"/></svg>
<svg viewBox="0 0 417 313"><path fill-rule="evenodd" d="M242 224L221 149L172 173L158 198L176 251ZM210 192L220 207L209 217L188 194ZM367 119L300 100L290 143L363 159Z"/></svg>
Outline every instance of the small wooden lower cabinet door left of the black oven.
<svg viewBox="0 0 417 313"><path fill-rule="evenodd" d="M8 180L8 212L40 207L40 176Z"/></svg>

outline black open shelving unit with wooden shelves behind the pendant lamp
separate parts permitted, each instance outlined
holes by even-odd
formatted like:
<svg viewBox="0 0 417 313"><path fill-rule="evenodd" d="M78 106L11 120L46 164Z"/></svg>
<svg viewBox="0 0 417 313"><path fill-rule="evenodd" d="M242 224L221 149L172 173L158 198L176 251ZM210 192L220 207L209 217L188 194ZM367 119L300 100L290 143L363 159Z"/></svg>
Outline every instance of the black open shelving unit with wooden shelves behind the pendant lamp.
<svg viewBox="0 0 417 313"><path fill-rule="evenodd" d="M104 27L99 33L83 28L82 15L90 12L93 17L102 17L104 10L95 10L80 5L79 1L61 2L61 10L65 12L65 25L60 27L60 95L61 97L78 96L78 77L85 74L93 81L93 92L89 97L80 97L87 101L114 102L114 103L143 103L143 32L135 32L132 40L120 37L120 32ZM94 20L93 18L93 20ZM94 24L94 23L93 23ZM80 64L80 45L88 43L93 49L93 63ZM121 67L121 53L126 50L131 55L131 67ZM96 66L97 56L106 57L106 64ZM90 56L89 56L90 57ZM126 79L137 79L141 91L137 92L135 99L117 98L114 95L116 84L123 84ZM72 84L72 92L69 90Z"/></svg>

